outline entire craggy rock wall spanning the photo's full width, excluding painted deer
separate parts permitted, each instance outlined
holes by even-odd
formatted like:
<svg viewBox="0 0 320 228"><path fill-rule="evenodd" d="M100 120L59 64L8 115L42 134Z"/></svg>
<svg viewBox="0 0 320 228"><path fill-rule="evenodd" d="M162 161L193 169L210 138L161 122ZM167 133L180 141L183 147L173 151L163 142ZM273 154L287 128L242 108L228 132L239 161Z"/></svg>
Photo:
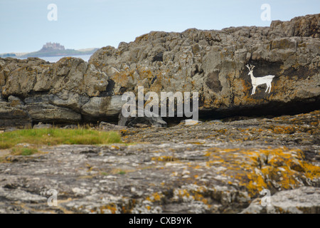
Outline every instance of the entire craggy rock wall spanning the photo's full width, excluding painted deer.
<svg viewBox="0 0 320 228"><path fill-rule="evenodd" d="M137 95L138 86L144 93L198 92L200 116L208 118L294 113L319 107L319 50L319 14L270 27L151 32L101 48L89 63L0 58L0 90L4 101L20 99L15 110L33 123L117 122L121 95ZM250 95L246 64L255 77L274 75L271 93L262 85Z"/></svg>

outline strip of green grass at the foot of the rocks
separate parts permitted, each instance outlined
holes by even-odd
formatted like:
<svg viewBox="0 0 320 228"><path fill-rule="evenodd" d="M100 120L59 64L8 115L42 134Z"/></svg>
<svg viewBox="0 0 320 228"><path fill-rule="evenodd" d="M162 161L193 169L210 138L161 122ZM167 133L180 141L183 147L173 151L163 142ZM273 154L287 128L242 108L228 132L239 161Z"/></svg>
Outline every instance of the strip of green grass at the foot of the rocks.
<svg viewBox="0 0 320 228"><path fill-rule="evenodd" d="M33 145L99 145L121 142L119 133L79 129L26 129L0 134L0 149L14 147L18 143ZM25 151L24 154L30 152Z"/></svg>

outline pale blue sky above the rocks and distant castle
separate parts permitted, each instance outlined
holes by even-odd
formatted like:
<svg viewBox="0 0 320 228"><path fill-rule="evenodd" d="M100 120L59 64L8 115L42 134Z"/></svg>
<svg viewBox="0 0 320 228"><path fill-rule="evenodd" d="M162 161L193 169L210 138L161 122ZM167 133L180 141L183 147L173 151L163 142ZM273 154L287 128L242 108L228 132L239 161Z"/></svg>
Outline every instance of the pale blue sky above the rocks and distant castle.
<svg viewBox="0 0 320 228"><path fill-rule="evenodd" d="M49 21L49 4L57 21ZM31 52L46 42L65 48L117 47L150 31L270 26L271 20L319 14L319 0L0 0L0 53Z"/></svg>

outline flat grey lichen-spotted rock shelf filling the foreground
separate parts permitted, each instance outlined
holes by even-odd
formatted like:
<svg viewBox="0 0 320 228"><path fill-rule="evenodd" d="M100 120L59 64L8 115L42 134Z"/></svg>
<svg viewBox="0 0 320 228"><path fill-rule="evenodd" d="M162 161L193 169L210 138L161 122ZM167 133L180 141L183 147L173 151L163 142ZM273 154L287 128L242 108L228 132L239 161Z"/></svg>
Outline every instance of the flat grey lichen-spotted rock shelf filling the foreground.
<svg viewBox="0 0 320 228"><path fill-rule="evenodd" d="M125 128L126 144L2 150L0 212L319 213L319 120L317 110ZM52 189L57 206L47 204Z"/></svg>

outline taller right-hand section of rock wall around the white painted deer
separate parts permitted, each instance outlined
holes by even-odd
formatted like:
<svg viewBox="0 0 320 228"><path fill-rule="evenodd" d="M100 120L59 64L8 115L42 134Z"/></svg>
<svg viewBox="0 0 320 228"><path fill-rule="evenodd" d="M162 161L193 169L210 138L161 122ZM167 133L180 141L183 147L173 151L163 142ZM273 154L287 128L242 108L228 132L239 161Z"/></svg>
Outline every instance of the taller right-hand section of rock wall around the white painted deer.
<svg viewBox="0 0 320 228"><path fill-rule="evenodd" d="M268 27L230 27L222 31L191 28L183 33L151 32L118 48L101 48L90 63L114 81L114 94L137 86L155 91L198 91L200 110L255 114L276 112L292 103L319 105L319 14ZM274 75L271 93L265 86L251 94L245 65L256 77ZM111 70L113 69L113 70ZM260 113L260 114L259 114Z"/></svg>

